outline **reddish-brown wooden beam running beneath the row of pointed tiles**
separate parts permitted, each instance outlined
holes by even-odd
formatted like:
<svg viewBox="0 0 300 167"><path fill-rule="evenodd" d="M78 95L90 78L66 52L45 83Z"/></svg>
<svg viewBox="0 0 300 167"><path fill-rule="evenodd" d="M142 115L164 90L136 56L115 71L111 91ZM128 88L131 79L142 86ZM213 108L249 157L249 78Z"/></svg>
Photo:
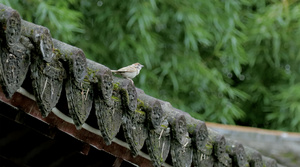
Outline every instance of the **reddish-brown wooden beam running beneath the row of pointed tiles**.
<svg viewBox="0 0 300 167"><path fill-rule="evenodd" d="M120 157L139 166L152 166L150 159L147 159L141 155L133 157L131 155L130 149L128 147L125 147L123 144L119 144L113 141L111 145L107 146L103 138L99 134L90 132L85 128L77 130L74 124L59 118L53 112L51 112L46 118L43 118L36 102L28 98L27 96L24 96L20 93L15 93L11 99L7 99L1 89L0 100L10 106L18 108L19 110L40 120L41 122L44 122L45 124L50 125L51 127L56 127L60 131L63 131L80 141L88 143L89 145L97 148L98 150L103 150L116 157ZM10 114L9 110L4 112Z"/></svg>

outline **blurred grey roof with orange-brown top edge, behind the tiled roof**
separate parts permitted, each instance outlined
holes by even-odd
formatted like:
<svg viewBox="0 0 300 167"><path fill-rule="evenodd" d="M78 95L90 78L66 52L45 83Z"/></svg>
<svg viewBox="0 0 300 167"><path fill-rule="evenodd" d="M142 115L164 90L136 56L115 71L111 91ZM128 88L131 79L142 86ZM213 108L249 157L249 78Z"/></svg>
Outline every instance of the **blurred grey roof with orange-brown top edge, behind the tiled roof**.
<svg viewBox="0 0 300 167"><path fill-rule="evenodd" d="M209 122L206 125L225 137L235 139L268 157L273 157L280 164L289 167L298 167L300 164L300 133Z"/></svg>

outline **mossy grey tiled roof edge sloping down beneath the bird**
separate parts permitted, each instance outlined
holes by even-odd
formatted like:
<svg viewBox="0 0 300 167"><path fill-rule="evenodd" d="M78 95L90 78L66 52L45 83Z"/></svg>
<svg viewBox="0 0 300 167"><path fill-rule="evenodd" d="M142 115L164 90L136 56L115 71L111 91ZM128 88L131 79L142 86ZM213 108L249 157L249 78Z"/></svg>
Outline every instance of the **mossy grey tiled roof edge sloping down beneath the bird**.
<svg viewBox="0 0 300 167"><path fill-rule="evenodd" d="M29 110L22 102L15 106L41 121L112 154L116 152L110 145L128 144L134 157L151 159L154 166L168 166L167 158L169 165L179 167L280 166L170 103L148 96L133 82L114 77L108 67L87 60L81 49L52 39L46 27L22 20L17 11L1 4L0 24L0 84L6 102L16 104L17 98L9 100L16 92L23 100L36 101L39 110ZM25 89L24 80L29 83ZM58 107L63 103L67 108ZM92 116L97 127L86 123ZM127 144L116 138L120 128ZM140 151L144 145L148 155Z"/></svg>

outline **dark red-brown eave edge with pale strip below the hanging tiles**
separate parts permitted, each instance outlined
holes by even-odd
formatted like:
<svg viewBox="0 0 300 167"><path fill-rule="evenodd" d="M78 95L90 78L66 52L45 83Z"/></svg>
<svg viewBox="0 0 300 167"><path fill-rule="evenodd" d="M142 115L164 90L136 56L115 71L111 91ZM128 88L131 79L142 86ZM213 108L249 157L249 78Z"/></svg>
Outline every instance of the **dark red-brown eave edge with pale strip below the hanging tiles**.
<svg viewBox="0 0 300 167"><path fill-rule="evenodd" d="M72 118L62 113L56 107L52 109L52 113L50 113L48 117L43 118L40 114L39 109L37 108L35 96L30 94L22 87L17 90L17 93L15 93L11 99L5 98L0 88L0 101L16 109L21 109L21 111L24 111L28 115L46 124L49 124L50 127L55 126L57 129L69 134L77 140L81 140L82 142L90 144L96 149L104 150L129 162L140 165L145 165L151 161L149 155L141 151L139 152L139 156L133 158L130 155L130 152L126 151L130 150L128 143L117 138L114 138L112 147L106 146L102 139L101 133L99 132L99 129L95 129L88 124L84 124L81 131L76 130ZM28 106L31 107L28 108ZM51 136L51 138L54 138L54 136ZM164 163L163 166L169 167L170 165Z"/></svg>

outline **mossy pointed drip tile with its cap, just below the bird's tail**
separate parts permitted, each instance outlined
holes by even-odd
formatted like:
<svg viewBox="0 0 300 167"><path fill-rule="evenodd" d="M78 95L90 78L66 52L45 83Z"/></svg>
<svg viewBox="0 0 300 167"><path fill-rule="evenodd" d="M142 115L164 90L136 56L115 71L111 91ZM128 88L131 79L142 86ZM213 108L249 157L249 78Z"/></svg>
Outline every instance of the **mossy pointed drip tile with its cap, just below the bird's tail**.
<svg viewBox="0 0 300 167"><path fill-rule="evenodd" d="M102 137L107 145L112 143L120 130L122 123L121 95L116 85L112 83L109 68L87 60L88 73L95 78L95 114Z"/></svg>

